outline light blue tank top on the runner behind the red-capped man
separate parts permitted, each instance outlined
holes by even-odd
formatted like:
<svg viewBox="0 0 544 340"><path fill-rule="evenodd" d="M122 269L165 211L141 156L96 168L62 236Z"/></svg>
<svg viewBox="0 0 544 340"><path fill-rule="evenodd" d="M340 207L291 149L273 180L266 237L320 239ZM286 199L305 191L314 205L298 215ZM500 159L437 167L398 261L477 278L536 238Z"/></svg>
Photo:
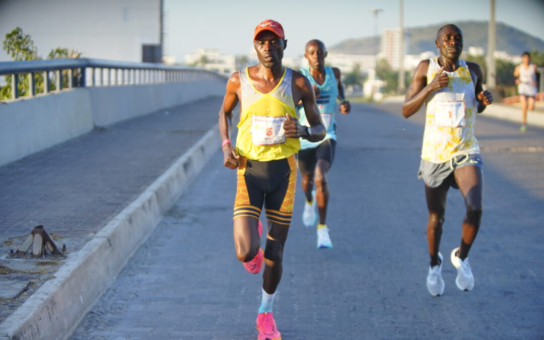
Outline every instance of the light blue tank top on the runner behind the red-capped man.
<svg viewBox="0 0 544 340"><path fill-rule="evenodd" d="M327 139L337 139L335 115L336 98L338 97L338 83L336 82L335 72L332 71L332 67L330 66L325 66L325 82L323 82L323 85L319 85L318 83L316 83L315 79L313 79L312 75L310 75L309 66L306 67L306 69L300 69L300 72L304 76L306 76L306 78L310 79L310 83L312 84L312 86L315 84L320 91L320 96L319 98L316 98L316 102L317 107L319 108L319 112L322 114L322 120L327 128L327 134L325 135L325 138L321 141L312 143L310 141L307 141L306 139L300 139L300 148L304 150L311 149L312 147L317 147L319 144L323 143ZM306 119L304 107L302 107L302 105L299 105L296 108L296 111L298 113L300 123L302 125L310 126L308 120Z"/></svg>

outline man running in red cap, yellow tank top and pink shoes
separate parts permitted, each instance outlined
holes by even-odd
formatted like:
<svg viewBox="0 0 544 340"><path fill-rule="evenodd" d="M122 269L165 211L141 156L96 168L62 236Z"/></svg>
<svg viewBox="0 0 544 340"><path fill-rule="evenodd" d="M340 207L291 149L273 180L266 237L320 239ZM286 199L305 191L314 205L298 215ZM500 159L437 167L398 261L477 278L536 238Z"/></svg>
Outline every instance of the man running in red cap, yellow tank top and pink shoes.
<svg viewBox="0 0 544 340"><path fill-rule="evenodd" d="M259 64L234 72L228 79L219 111L224 165L237 169L234 201L234 248L250 273L258 273L264 261L262 303L257 316L258 339L281 339L272 313L282 273L283 247L293 214L296 187L294 154L299 138L319 141L325 127L310 81L282 65L287 46L283 27L265 20L254 32ZM297 120L295 103L302 101L308 121ZM236 148L230 141L233 110L240 102ZM267 241L260 248L259 215L264 205ZM264 259L263 259L264 258Z"/></svg>

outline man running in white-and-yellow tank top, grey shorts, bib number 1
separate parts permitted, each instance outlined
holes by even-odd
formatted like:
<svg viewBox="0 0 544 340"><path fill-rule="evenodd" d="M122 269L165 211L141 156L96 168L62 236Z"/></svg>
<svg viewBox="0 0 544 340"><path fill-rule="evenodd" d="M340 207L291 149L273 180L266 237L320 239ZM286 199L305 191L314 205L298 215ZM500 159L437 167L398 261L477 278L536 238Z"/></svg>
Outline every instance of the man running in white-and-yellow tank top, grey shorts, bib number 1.
<svg viewBox="0 0 544 340"><path fill-rule="evenodd" d="M427 240L431 258L427 288L442 295L442 254L439 246L449 187L460 189L466 214L462 221L461 244L450 254L457 269L455 285L461 290L474 287L468 252L478 233L484 194L484 174L478 141L474 137L476 113L492 103L482 87L480 66L459 59L463 36L459 27L448 24L438 30L436 47L440 57L423 60L414 72L406 92L403 115L409 118L426 106L425 132L418 177L425 182L429 209Z"/></svg>

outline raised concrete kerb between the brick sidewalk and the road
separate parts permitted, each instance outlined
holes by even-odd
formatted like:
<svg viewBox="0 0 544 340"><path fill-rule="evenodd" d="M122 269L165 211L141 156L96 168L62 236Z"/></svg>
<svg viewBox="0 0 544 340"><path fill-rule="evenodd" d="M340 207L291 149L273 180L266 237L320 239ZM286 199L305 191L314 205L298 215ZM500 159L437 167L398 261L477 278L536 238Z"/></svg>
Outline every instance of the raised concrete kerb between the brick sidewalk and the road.
<svg viewBox="0 0 544 340"><path fill-rule="evenodd" d="M217 125L179 157L156 181L71 254L0 324L0 338L65 339L151 234L162 214L181 197L220 146Z"/></svg>

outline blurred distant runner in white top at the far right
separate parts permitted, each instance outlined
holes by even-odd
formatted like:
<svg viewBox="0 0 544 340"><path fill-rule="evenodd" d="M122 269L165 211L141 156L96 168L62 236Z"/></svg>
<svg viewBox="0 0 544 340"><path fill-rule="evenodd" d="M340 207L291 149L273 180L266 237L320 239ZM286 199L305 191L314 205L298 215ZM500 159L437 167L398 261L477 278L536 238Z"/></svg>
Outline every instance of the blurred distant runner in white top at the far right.
<svg viewBox="0 0 544 340"><path fill-rule="evenodd" d="M535 108L536 96L536 65L531 64L529 52L521 55L522 63L516 66L514 77L516 78L517 92L521 96L521 132L527 131L527 107Z"/></svg>

